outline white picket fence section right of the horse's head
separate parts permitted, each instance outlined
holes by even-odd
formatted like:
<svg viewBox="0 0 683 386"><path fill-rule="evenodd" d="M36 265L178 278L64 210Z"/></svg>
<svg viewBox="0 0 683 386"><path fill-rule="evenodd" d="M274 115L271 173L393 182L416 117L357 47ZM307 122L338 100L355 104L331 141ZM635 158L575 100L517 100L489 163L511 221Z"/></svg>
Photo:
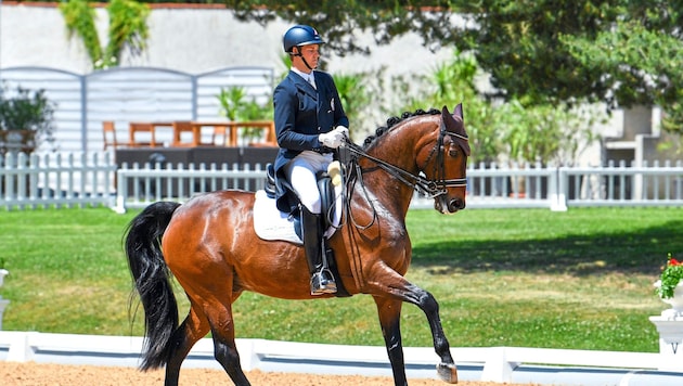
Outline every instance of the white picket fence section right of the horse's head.
<svg viewBox="0 0 683 386"><path fill-rule="evenodd" d="M467 170L467 207L680 206L683 162L544 167L479 165Z"/></svg>

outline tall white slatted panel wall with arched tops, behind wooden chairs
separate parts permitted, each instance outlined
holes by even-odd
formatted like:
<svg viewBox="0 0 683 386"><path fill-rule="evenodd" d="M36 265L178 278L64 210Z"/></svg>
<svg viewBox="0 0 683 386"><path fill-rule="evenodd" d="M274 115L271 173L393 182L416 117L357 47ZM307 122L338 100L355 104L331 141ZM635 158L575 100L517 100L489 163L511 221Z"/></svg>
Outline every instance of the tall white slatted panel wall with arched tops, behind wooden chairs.
<svg viewBox="0 0 683 386"><path fill-rule="evenodd" d="M273 79L273 68L256 66L198 75L154 67L114 67L88 75L34 66L0 72L9 95L20 86L46 91L55 104L54 145L68 152L103 149L103 120L126 133L130 121L222 120L221 89L242 88L249 100L267 105Z"/></svg>

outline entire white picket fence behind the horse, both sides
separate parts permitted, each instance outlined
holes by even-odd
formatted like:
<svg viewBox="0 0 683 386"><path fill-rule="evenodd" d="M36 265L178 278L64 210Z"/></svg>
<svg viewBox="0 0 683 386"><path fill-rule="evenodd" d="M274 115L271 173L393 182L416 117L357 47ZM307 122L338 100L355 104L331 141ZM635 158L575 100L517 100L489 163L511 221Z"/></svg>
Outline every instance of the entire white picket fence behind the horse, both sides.
<svg viewBox="0 0 683 386"><path fill-rule="evenodd" d="M221 189L256 191L265 165L120 165L112 153L8 154L0 158L0 207L107 206L124 213L160 200L183 202ZM682 206L683 162L597 167L475 165L467 170L469 208ZM413 208L430 207L416 197Z"/></svg>

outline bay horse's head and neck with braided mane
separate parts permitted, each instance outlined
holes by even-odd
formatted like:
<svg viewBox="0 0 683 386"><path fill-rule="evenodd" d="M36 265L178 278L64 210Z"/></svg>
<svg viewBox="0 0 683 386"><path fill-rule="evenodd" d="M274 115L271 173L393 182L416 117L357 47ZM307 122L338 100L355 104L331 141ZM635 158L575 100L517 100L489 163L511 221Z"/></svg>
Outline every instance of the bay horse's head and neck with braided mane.
<svg viewBox="0 0 683 386"><path fill-rule="evenodd" d="M442 214L454 214L465 208L465 172L469 144L463 124L463 107L455 106L453 115L444 106L441 112L430 110L404 113L401 118L387 119L387 127L381 127L376 136L365 139L365 146L348 143L348 150L366 159L358 165L361 177L364 171L384 170L379 178L366 179L371 190L384 186L378 198L400 202L408 210L412 192L408 189L397 191L396 183L403 183L423 195L435 200L434 207ZM389 178L385 178L389 177ZM357 179L349 179L356 183ZM365 186L364 184L361 184ZM386 196L386 192L390 192ZM395 195L402 192L402 195Z"/></svg>

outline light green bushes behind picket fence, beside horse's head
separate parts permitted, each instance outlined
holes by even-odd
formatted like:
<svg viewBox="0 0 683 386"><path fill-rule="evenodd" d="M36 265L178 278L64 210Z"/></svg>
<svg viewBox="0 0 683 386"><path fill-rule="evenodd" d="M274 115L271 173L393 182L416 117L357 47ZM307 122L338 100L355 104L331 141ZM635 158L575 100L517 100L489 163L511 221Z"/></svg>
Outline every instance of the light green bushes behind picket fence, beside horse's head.
<svg viewBox="0 0 683 386"><path fill-rule="evenodd" d="M516 99L493 103L477 90L479 72L474 55L455 52L453 59L439 64L429 78L421 79L420 83L433 85L431 90L422 86L426 92L405 92L414 95L407 106L409 111L464 102L472 162L567 165L577 162L595 140L592 127L603 118L600 112L565 103L558 107L551 104L524 106ZM415 87L417 83L413 78L407 85Z"/></svg>

